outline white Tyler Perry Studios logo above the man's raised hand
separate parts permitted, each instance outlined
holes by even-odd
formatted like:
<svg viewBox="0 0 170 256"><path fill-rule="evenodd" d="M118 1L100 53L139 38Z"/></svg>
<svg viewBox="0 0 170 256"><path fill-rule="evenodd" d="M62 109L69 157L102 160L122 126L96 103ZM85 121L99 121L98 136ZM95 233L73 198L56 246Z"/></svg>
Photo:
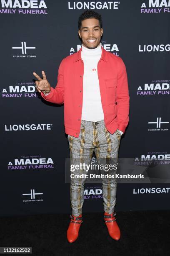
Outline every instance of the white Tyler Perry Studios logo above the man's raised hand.
<svg viewBox="0 0 170 256"><path fill-rule="evenodd" d="M20 46L13 46L12 49L17 53L22 53L22 55L13 55L13 58L36 58L36 55L28 55L28 51L30 52L30 49L36 49L36 47L27 46L26 42L20 42Z"/></svg>

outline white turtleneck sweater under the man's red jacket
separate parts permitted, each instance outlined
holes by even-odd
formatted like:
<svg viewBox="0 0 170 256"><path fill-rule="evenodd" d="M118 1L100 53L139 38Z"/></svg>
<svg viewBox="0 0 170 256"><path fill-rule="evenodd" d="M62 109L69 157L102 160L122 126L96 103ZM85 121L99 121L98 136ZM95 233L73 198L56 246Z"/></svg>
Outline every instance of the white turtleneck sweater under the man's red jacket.
<svg viewBox="0 0 170 256"><path fill-rule="evenodd" d="M101 54L101 43L95 49L88 49L82 45L81 58L84 62L82 120L104 120L97 74L97 63Z"/></svg>

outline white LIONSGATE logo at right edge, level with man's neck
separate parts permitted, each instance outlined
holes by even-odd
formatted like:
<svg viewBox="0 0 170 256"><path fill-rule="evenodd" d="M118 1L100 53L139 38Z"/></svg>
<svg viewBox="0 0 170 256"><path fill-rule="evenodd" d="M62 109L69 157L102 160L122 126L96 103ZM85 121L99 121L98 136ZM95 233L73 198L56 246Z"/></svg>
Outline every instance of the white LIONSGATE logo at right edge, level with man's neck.
<svg viewBox="0 0 170 256"><path fill-rule="evenodd" d="M170 44L148 44L148 45L139 45L139 52L162 52L170 51Z"/></svg>

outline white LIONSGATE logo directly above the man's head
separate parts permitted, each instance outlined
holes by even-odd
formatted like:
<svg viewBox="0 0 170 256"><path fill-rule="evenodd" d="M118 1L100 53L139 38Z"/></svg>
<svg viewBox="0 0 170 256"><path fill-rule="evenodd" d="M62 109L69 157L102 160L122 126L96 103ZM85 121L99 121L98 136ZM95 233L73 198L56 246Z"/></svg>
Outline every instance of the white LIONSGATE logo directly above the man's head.
<svg viewBox="0 0 170 256"><path fill-rule="evenodd" d="M118 9L120 5L119 1L108 1L108 2L100 2L100 1L92 1L92 2L68 2L68 10L82 10L82 9L98 9L98 10L108 10L108 9Z"/></svg>

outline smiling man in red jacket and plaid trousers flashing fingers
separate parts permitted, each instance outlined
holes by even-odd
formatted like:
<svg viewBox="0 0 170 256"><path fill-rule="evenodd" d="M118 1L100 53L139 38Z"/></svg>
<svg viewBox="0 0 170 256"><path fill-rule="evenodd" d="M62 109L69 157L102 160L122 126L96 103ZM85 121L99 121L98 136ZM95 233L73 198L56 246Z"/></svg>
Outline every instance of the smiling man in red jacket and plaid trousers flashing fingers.
<svg viewBox="0 0 170 256"><path fill-rule="evenodd" d="M64 58L59 67L57 85L50 87L45 72L41 79L33 73L37 91L53 103L64 103L65 133L68 134L70 161L89 164L93 151L97 161L117 161L120 138L129 122L129 92L125 64L101 45L102 19L87 10L78 20L82 47ZM85 173L80 168L77 174ZM72 215L67 240L74 242L82 223L85 179L71 178ZM104 221L109 235L120 239L116 223L116 180L102 179Z"/></svg>

